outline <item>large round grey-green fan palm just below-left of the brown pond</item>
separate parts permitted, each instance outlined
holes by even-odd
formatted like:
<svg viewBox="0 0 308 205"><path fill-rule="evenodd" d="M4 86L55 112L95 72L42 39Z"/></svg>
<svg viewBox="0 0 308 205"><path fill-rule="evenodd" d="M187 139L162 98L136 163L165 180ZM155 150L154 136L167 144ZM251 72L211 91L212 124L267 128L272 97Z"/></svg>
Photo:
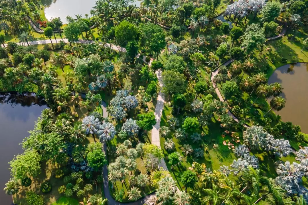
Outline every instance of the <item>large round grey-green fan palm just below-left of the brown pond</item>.
<svg viewBox="0 0 308 205"><path fill-rule="evenodd" d="M262 126L251 126L243 132L244 144L251 149L266 148L269 134Z"/></svg>

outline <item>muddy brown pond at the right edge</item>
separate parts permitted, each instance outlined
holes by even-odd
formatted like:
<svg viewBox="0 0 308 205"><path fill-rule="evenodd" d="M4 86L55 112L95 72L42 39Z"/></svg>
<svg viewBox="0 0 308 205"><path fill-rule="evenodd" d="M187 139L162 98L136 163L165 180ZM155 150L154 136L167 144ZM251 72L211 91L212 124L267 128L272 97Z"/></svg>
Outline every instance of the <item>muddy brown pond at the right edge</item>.
<svg viewBox="0 0 308 205"><path fill-rule="evenodd" d="M286 99L286 106L275 113L284 122L300 125L302 132L308 133L308 64L288 64L276 69L269 79L269 83L274 82L281 83L284 89L280 96Z"/></svg>

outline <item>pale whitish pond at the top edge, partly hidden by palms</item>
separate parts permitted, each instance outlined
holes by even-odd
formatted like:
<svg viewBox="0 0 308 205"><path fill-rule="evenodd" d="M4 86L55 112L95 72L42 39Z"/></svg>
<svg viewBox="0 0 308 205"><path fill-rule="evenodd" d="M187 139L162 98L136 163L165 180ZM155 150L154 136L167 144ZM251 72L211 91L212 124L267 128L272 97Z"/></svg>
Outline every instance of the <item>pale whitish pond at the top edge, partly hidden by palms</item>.
<svg viewBox="0 0 308 205"><path fill-rule="evenodd" d="M63 23L67 23L66 17L75 18L75 14L90 15L90 10L95 6L96 0L41 0L45 6L45 16L48 20L60 17ZM139 0L128 1L130 5L140 6Z"/></svg>

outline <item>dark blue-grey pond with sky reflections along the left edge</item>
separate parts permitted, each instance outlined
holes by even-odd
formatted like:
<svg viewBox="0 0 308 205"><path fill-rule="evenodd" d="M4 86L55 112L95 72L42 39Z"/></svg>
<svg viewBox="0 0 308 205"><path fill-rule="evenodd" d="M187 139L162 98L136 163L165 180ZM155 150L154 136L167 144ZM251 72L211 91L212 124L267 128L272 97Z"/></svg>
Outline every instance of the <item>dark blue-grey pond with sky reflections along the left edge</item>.
<svg viewBox="0 0 308 205"><path fill-rule="evenodd" d="M28 131L34 128L34 122L44 108L47 108L45 101L34 93L0 93L0 199L3 205L12 204L12 196L3 191L4 184L10 179L8 162L23 152L20 143L29 136Z"/></svg>

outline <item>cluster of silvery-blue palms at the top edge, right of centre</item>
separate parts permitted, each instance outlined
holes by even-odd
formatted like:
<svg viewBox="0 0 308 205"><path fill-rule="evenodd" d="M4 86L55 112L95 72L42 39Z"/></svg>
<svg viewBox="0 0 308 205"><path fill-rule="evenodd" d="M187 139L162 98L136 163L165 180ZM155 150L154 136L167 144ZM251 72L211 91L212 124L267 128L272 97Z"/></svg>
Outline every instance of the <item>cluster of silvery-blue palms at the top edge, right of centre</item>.
<svg viewBox="0 0 308 205"><path fill-rule="evenodd" d="M265 4L266 4L265 0L249 0L249 1L239 0L227 6L225 10L225 15L229 15L229 19L231 15L233 15L234 18L237 18L237 22L235 25L237 25L240 18L244 17L246 17L245 19L246 23L249 14L254 13L256 16L257 13L262 10L262 7L265 6Z"/></svg>

